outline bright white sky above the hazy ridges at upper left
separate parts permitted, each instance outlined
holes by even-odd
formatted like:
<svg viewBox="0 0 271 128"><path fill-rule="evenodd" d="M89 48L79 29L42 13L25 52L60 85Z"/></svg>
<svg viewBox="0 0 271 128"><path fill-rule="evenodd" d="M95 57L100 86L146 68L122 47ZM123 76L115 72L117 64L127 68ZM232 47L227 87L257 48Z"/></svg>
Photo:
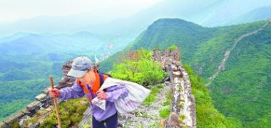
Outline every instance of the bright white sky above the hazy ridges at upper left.
<svg viewBox="0 0 271 128"><path fill-rule="evenodd" d="M88 13L126 17L163 0L0 0L0 22Z"/></svg>

